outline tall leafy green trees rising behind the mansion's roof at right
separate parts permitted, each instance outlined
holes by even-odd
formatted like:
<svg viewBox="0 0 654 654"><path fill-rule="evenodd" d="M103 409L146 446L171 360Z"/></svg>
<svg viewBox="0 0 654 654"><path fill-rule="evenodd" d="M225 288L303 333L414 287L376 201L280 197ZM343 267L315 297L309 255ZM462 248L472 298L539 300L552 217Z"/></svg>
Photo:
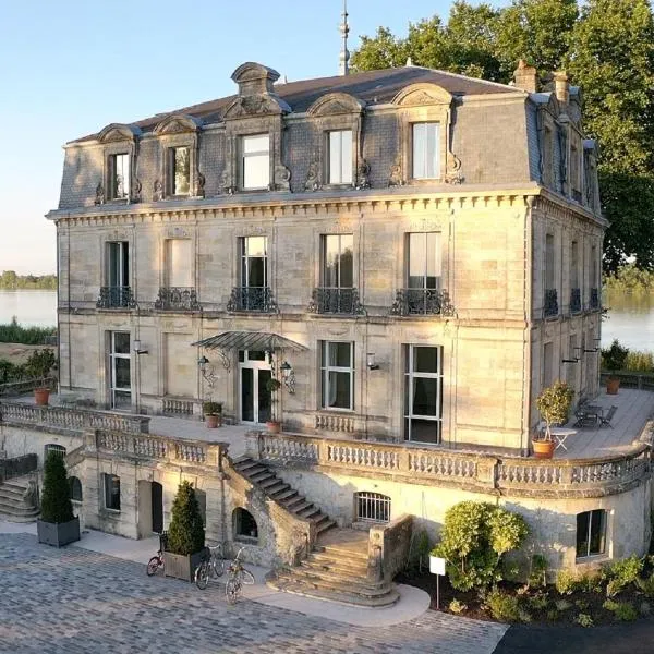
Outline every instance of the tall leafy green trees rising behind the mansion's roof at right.
<svg viewBox="0 0 654 654"><path fill-rule="evenodd" d="M654 269L654 23L647 0L512 0L500 10L467 0L409 26L362 40L356 70L413 63L508 83L519 59L543 81L566 69L584 98L584 130L601 148L604 269L635 257Z"/></svg>

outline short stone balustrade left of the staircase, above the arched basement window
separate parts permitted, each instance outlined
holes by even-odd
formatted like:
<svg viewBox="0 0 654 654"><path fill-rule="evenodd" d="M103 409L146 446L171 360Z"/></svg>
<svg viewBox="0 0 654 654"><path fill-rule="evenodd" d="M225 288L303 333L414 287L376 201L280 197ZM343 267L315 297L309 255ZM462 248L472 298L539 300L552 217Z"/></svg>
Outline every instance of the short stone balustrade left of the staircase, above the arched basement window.
<svg viewBox="0 0 654 654"><path fill-rule="evenodd" d="M86 451L112 452L122 457L154 459L167 463L206 465L222 470L227 444L169 438L153 434L128 434L94 429L85 436Z"/></svg>

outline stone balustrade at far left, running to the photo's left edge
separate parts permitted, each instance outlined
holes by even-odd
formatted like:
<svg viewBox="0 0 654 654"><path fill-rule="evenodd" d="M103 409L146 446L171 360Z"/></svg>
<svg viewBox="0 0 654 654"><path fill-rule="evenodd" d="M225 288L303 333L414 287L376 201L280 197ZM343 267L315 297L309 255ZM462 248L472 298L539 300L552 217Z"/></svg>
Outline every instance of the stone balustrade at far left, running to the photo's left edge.
<svg viewBox="0 0 654 654"><path fill-rule="evenodd" d="M149 417L121 415L109 411L68 409L65 407L37 407L22 402L0 402L0 422L41 425L82 432L106 429L130 434L147 434Z"/></svg>

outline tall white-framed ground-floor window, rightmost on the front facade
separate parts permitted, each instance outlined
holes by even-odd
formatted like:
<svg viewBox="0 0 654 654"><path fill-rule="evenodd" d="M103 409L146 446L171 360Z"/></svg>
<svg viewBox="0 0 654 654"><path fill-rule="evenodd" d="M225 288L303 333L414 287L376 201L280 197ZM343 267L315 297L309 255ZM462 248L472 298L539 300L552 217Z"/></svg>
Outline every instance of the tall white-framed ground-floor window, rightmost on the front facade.
<svg viewBox="0 0 654 654"><path fill-rule="evenodd" d="M407 346L404 351L404 440L440 443L443 348Z"/></svg>

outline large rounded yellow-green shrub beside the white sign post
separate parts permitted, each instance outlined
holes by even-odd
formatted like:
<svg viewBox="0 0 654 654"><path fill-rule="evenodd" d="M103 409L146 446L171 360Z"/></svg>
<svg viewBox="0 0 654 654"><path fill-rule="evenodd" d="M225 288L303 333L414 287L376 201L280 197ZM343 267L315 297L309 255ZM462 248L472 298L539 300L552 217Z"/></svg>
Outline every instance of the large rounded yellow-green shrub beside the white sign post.
<svg viewBox="0 0 654 654"><path fill-rule="evenodd" d="M446 512L433 554L447 560L455 589L486 588L501 580L502 555L520 547L528 531L517 513L487 502L462 501Z"/></svg>

